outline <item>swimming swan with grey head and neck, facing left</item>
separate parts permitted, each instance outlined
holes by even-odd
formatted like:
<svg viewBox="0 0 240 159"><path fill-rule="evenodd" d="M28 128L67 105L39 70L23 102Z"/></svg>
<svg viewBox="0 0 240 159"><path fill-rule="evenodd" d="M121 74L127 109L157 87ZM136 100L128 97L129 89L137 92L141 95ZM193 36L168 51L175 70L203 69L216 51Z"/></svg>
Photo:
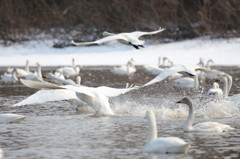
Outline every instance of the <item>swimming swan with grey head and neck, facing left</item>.
<svg viewBox="0 0 240 159"><path fill-rule="evenodd" d="M194 111L192 101L188 97L185 97L177 103L184 103L189 107L188 118L183 125L184 132L225 132L234 129L230 125L221 124L218 122L202 122L193 125Z"/></svg>

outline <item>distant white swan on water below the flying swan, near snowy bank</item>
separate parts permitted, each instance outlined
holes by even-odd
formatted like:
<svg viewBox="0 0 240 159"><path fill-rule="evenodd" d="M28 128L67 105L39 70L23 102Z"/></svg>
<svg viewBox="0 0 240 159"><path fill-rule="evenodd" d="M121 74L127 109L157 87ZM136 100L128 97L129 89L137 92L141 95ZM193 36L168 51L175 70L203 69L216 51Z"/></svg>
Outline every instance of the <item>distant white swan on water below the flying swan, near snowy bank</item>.
<svg viewBox="0 0 240 159"><path fill-rule="evenodd" d="M128 62L127 65L119 66L119 67L114 67L111 72L117 75L131 75L135 73L137 70L134 66L134 60L131 58Z"/></svg>

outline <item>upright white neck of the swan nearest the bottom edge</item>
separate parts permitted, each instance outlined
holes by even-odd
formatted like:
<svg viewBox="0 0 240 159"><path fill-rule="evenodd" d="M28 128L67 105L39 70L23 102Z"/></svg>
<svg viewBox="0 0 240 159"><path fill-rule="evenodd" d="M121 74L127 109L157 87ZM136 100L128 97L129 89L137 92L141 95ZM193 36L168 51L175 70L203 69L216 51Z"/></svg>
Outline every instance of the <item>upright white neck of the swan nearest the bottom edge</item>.
<svg viewBox="0 0 240 159"><path fill-rule="evenodd" d="M148 119L148 138L147 138L147 145L151 143L152 141L157 139L157 124L156 124L156 118L153 114L153 112L150 112L147 116Z"/></svg>

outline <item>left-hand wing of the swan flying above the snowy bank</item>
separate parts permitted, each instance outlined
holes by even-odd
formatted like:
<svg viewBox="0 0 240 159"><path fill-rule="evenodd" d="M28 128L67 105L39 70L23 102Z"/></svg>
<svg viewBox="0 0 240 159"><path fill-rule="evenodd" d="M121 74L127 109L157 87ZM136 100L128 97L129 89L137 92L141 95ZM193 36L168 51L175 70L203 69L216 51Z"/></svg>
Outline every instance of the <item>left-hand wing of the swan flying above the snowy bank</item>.
<svg viewBox="0 0 240 159"><path fill-rule="evenodd" d="M116 34L116 35L111 35L111 36L107 36L105 38L96 40L96 41L92 41L92 42L74 42L73 40L71 41L74 45L76 46L86 46L86 45L96 45L96 44L103 44L103 43L107 43L109 41L113 41L113 40L124 40L128 42L128 39L124 36L122 36L122 34Z"/></svg>

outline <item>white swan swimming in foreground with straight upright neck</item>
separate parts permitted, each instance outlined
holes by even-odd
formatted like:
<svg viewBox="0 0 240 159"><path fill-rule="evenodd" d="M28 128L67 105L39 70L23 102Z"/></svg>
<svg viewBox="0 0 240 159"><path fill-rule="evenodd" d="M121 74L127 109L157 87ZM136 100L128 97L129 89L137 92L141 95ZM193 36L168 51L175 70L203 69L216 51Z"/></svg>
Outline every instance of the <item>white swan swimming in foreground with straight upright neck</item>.
<svg viewBox="0 0 240 159"><path fill-rule="evenodd" d="M156 118L152 110L148 110L145 118L148 120L148 138L144 147L145 153L186 153L190 147L178 137L157 137Z"/></svg>

